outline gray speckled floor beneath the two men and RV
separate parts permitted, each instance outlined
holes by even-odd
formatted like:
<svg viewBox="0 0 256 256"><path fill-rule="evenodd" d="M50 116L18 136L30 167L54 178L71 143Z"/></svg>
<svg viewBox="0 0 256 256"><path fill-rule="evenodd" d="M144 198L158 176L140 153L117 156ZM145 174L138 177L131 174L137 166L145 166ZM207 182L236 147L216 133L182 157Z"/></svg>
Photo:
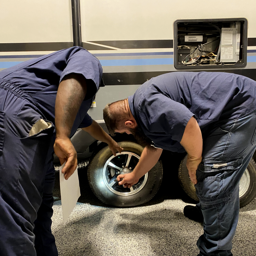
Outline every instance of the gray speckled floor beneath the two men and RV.
<svg viewBox="0 0 256 256"><path fill-rule="evenodd" d="M175 172L174 172L175 173ZM164 174L163 184L147 204L112 208L102 204L90 190L86 168L79 169L81 197L63 225L61 201L53 205L52 233L60 256L196 256L202 224L183 215L195 203L180 188L177 179ZM59 173L54 196L59 197ZM172 182L171 182L172 181ZM233 240L233 254L256 255L256 199L240 209Z"/></svg>

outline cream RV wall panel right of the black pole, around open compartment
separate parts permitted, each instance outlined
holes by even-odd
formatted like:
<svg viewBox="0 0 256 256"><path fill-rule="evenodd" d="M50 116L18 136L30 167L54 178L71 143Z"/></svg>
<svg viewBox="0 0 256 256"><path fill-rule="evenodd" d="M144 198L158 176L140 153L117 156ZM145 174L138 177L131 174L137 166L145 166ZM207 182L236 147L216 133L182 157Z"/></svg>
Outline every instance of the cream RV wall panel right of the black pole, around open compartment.
<svg viewBox="0 0 256 256"><path fill-rule="evenodd" d="M173 39L173 22L181 19L242 18L248 37L256 37L254 0L80 0L82 40Z"/></svg>

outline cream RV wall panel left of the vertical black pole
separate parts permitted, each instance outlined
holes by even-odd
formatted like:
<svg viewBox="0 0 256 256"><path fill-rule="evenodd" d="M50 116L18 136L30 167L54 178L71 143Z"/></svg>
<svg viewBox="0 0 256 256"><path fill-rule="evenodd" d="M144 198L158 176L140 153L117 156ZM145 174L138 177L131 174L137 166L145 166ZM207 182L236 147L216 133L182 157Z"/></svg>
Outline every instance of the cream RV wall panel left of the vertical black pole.
<svg viewBox="0 0 256 256"><path fill-rule="evenodd" d="M1 1L0 43L73 42L70 0Z"/></svg>

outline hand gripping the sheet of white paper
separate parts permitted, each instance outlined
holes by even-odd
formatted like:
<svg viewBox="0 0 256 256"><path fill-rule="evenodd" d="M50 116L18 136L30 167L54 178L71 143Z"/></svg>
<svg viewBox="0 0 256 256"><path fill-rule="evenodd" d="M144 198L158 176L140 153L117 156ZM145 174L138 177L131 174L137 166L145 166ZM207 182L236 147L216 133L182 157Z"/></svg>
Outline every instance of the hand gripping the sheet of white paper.
<svg viewBox="0 0 256 256"><path fill-rule="evenodd" d="M62 168L62 173L65 174L65 180L75 172L77 167L76 150L69 138L56 138L54 143L54 152L60 159L60 164L67 163Z"/></svg>

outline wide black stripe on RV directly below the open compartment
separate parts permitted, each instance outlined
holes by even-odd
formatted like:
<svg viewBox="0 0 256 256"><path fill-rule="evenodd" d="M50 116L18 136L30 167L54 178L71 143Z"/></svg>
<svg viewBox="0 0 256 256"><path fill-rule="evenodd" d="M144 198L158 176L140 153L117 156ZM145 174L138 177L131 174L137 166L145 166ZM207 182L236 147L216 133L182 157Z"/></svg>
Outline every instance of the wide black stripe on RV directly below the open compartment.
<svg viewBox="0 0 256 256"><path fill-rule="evenodd" d="M193 71L193 72L200 72ZM222 69L222 70L204 70L206 72L227 72L237 75L247 76L256 81L256 69ZM123 72L123 73L103 73L105 85L131 85L143 84L152 77L160 76L166 73L177 71L154 71L154 72Z"/></svg>

